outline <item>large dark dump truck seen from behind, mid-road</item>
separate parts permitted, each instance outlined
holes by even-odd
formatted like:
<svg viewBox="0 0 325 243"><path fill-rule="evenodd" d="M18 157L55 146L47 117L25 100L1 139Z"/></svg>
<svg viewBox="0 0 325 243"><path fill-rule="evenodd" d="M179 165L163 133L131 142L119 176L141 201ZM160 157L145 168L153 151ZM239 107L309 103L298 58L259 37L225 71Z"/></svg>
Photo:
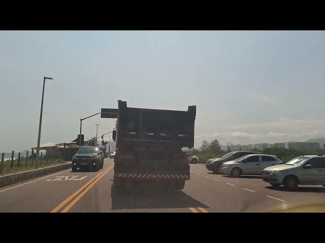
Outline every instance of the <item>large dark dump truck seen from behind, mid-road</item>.
<svg viewBox="0 0 325 243"><path fill-rule="evenodd" d="M190 179L187 153L194 146L196 106L187 111L127 107L118 100L114 189L158 182L182 190Z"/></svg>

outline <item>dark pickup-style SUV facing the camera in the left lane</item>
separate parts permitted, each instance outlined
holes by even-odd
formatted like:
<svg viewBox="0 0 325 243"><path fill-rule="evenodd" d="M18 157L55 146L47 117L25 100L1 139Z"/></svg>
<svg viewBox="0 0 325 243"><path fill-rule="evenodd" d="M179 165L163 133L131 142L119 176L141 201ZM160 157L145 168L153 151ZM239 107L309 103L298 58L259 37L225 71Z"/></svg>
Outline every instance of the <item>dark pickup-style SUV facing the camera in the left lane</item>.
<svg viewBox="0 0 325 243"><path fill-rule="evenodd" d="M99 171L104 167L103 151L97 146L80 147L72 157L72 171L77 171L77 168L94 169Z"/></svg>

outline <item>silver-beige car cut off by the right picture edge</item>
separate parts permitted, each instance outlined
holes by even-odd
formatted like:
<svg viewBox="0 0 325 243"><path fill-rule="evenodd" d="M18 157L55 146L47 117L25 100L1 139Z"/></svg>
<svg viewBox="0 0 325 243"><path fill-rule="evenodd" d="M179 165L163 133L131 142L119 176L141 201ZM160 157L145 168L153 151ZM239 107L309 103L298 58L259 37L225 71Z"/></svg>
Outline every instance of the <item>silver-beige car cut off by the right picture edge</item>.
<svg viewBox="0 0 325 243"><path fill-rule="evenodd" d="M325 155L303 155L283 165L263 170L263 180L272 186L283 185L294 190L298 185L322 185L325 187Z"/></svg>

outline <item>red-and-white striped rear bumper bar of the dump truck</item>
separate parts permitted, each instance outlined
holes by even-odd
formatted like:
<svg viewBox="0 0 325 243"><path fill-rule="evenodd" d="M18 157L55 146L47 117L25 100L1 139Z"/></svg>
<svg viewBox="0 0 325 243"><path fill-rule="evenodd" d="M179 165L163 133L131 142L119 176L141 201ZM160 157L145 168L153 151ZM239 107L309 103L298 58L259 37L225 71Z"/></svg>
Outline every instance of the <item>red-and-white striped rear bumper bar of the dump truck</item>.
<svg viewBox="0 0 325 243"><path fill-rule="evenodd" d="M183 179L189 180L189 174L128 174L128 173L115 173L114 177L116 178L127 178L127 179L158 179L158 180L166 180L166 179Z"/></svg>

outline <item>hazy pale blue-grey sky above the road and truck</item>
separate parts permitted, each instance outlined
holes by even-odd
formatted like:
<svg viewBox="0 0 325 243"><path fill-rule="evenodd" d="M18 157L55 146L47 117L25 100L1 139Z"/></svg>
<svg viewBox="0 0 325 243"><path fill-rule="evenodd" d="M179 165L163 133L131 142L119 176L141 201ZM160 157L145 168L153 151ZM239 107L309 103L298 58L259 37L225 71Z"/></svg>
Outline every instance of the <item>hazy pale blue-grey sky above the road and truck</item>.
<svg viewBox="0 0 325 243"><path fill-rule="evenodd" d="M197 105L196 144L325 137L324 31L0 31L0 151L77 138L80 118ZM115 120L83 121L90 138ZM107 137L108 139L108 137Z"/></svg>

